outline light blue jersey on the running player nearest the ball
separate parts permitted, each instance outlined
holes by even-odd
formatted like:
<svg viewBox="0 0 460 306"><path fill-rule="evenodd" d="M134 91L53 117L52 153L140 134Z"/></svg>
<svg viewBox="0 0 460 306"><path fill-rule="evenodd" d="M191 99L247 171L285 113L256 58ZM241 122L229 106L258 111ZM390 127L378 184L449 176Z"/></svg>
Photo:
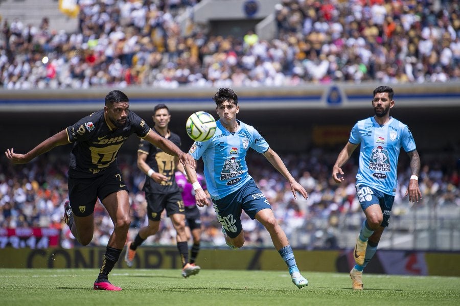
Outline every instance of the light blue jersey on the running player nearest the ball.
<svg viewBox="0 0 460 306"><path fill-rule="evenodd" d="M232 134L218 120L211 139L195 142L189 150L196 160L203 158L206 186L214 200L237 191L251 179L245 160L249 148L259 153L265 153L269 148L254 127L237 121L238 130Z"/></svg>

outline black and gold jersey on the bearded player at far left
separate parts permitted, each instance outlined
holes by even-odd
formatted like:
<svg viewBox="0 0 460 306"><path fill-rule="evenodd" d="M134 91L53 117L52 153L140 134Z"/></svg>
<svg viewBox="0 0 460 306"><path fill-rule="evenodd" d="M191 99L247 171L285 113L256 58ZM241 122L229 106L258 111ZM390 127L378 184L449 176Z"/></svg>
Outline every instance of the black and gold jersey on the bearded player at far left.
<svg viewBox="0 0 460 306"><path fill-rule="evenodd" d="M74 143L69 175L93 177L110 167L117 167L113 161L125 140L133 133L143 138L149 131L145 121L132 111L129 111L123 128L109 127L103 109L84 117L66 129L68 141Z"/></svg>

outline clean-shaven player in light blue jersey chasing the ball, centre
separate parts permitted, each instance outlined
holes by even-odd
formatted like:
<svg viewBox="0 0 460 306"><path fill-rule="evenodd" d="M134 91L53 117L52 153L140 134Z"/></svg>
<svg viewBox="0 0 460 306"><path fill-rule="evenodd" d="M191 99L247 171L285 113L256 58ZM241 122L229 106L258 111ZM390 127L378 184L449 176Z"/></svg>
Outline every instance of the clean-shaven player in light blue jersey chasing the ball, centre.
<svg viewBox="0 0 460 306"><path fill-rule="evenodd" d="M308 285L295 263L294 253L278 221L275 219L270 203L259 190L254 179L247 172L245 160L249 148L263 154L265 158L290 183L292 194L296 198L299 192L305 199L308 195L304 187L289 173L285 164L267 144L265 139L252 126L236 119L240 110L238 96L229 88L220 88L214 95L219 115L217 129L213 137L205 142L195 142L189 154L204 162L204 177L208 192L213 200L217 219L222 225L225 242L233 249L244 244L244 232L241 226L242 210L252 219L257 219L270 233L273 245L286 262L292 282L298 288ZM196 171L185 167L193 182L195 199L198 206L208 205L208 199L201 188Z"/></svg>

